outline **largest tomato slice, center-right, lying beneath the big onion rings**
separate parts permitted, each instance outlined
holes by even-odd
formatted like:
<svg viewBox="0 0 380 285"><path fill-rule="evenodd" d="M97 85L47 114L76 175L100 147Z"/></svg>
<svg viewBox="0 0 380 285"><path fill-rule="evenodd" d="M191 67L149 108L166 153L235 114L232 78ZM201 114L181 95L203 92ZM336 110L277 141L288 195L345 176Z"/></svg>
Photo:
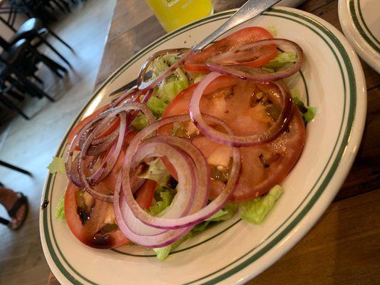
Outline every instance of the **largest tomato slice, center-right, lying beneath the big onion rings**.
<svg viewBox="0 0 380 285"><path fill-rule="evenodd" d="M272 98L279 98L277 86L272 83L254 83L240 79L235 79L233 85L230 82L230 86L227 86L224 84L226 80L220 77L213 82L212 86L210 84L207 93L202 95L200 100L201 112L224 120L236 135L262 133L270 128L274 123L273 119L267 114L265 105L255 103L255 101L252 104L252 95L260 91L272 95ZM217 88L218 83L224 88ZM163 118L188 113L194 89L195 85L190 86L177 95L168 105ZM301 155L306 134L303 120L296 110L288 129L279 138L265 145L240 147L242 168L237 189L230 198L232 202L240 202L265 194L274 185L282 182L292 170ZM161 128L159 134L168 135L171 132L170 127ZM220 145L203 136L194 138L192 142L202 151L209 163L210 160L228 161L230 159L230 151L220 151L220 148L225 148L225 145ZM173 169L168 167L168 170L176 177ZM212 180L211 185L211 198L215 198L225 186L217 180Z"/></svg>

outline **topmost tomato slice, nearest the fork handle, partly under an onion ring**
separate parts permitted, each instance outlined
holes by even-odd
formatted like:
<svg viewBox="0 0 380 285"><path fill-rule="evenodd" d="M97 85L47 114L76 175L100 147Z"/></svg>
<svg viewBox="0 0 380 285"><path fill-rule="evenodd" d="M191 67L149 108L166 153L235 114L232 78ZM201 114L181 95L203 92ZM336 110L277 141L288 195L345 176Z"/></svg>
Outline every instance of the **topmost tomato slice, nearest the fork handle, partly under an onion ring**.
<svg viewBox="0 0 380 285"><path fill-rule="evenodd" d="M230 51L233 48L237 48L238 46L252 43L254 41L265 40L268 38L273 38L273 36L265 28L258 26L242 28L241 30L236 31L229 36L222 38L220 41L212 43L212 45L207 46L207 48L205 48L203 51L200 51L200 53L196 53L194 56L191 56L188 61L185 61L183 67L187 71L208 71L208 68L205 65L205 61L208 58L217 56L220 53L225 53L226 51ZM252 53L250 56L252 60L250 60L247 65L256 67L262 66L274 58L274 56L276 56L276 46L263 46L257 48L254 53Z"/></svg>

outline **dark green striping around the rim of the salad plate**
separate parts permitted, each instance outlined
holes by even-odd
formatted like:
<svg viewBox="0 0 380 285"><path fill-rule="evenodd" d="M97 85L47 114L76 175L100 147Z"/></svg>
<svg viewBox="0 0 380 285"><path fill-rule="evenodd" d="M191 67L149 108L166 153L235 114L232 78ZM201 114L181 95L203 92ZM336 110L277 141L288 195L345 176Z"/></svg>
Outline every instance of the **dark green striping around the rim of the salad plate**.
<svg viewBox="0 0 380 285"><path fill-rule="evenodd" d="M228 18L234 12L235 11L226 11L226 12L222 12L220 14L212 15L212 16L208 17L207 19L202 19L200 21L196 21L195 23L189 24L188 26L184 26L183 28L180 28L173 33L170 33L168 35L163 36L162 38L158 39L154 43L150 44L150 46L147 46L146 48L144 48L142 51L140 51L140 53L136 54L135 56L133 56L133 58L130 58L129 61L125 62L125 64L123 66L121 66L118 69L118 71L115 71L115 73L113 73L113 75L110 76L110 78L108 78L101 85L101 87L98 88L98 90L96 90L96 93L94 93L93 98L91 98L91 100L88 101L88 103L81 110L81 113L78 114L78 117L76 118L76 120L74 120L73 125L75 125L78 122L78 120L80 120L81 116L83 115L83 113L86 110L86 108L88 107L88 105L92 103L92 101L97 97L98 93L100 93L101 90L103 90L103 88L105 88L106 86L108 86L108 84L113 82L113 80L115 78L117 78L120 75L120 73L123 73L123 71L125 71L125 69L129 68L129 66L131 64L133 64L135 61L138 61L139 58L143 57L146 53L151 51L156 46L160 45L160 43L163 43L164 41L168 41L168 39L173 38L174 36L177 36L180 33L184 33L185 31L188 31L191 28L195 28L196 26L200 26L200 25L212 22L212 21L217 21L220 19ZM207 279L209 277L212 277L212 275L217 274L218 272L223 271L224 269L227 269L229 266L237 263L237 261L240 261L241 259L244 259L245 257L247 257L247 259L245 259L245 261L242 261L240 264L236 264L235 267L233 267L232 269L228 269L224 273L222 273L218 276L215 276L212 279L209 279L206 282L206 284L215 284L218 281L226 279L227 277L235 274L237 271L244 269L246 266L251 264L253 261L257 260L263 254L268 252L269 249L272 249L272 247L274 247L278 242L280 242L302 220L302 218L307 214L307 212L309 212L309 209L311 209L312 206L315 204L315 202L317 202L317 199L319 198L319 196L322 195L322 192L324 191L325 187L327 187L327 185L329 184L329 181L332 179L334 172L337 170L337 166L339 164L340 159L342 158L344 148L346 147L349 135L351 133L352 124L354 122L354 117L355 117L355 108L356 108L356 81L355 81L355 76L354 76L354 71L353 71L353 68L351 65L351 61L349 60L349 56L346 53L346 50L344 49L344 47L342 46L342 43L340 43L339 40L337 39L337 37L334 36L334 34L332 32L330 32L327 28L325 28L322 24L319 24L318 21L315 21L314 19L311 19L308 16L304 16L302 14L296 14L292 11L285 11L282 9L271 9L271 10L265 12L265 15L266 16L281 17L281 18L284 18L284 19L287 19L290 21L295 21L298 24L301 24L303 26L306 26L307 28L311 29L314 33L317 33L317 35L320 36L322 38L322 40L329 46L329 48L332 50L332 53L334 53L334 57L337 59L337 63L339 64L339 68L340 68L341 75L342 75L342 80L344 83L344 111L343 111L343 115L342 115L342 122L340 125L339 136L338 136L337 142L335 142L334 150L332 151L332 155L334 152L336 152L335 150L337 150L337 145L338 145L339 140L342 140L342 142L341 142L341 145L339 146L339 149L337 150L336 157L334 157L334 162L332 162L332 166L328 170L328 173L327 173L326 177L324 178L324 181L319 186L319 189L315 192L314 196L309 199L309 202L307 202L307 204L301 209L301 211L299 212L297 217L295 217L291 222L289 222L289 219L292 217L292 215L295 212L297 212L297 209L300 209L302 207L302 204L304 203L304 201L311 195L312 191L314 190L314 187L317 185L320 178L322 177L324 172L327 170L327 165L329 165L329 163L332 161L332 155L329 157L329 162L327 162L327 165L326 165L324 171L322 172L321 176L319 177L319 180L316 182L316 185L314 185L312 190L310 190L307 197L304 199L304 201L302 201L301 204L299 204L297 209L294 210L293 214L291 214L288 217L287 221L284 222L284 224L286 222L289 222L287 227L284 230L282 230L282 232L280 232L276 237L274 237L274 239L272 239L269 242L269 244L264 245L265 242L268 239L270 239L282 226L280 226L276 231L274 231L271 234L271 236L269 236L264 242L262 242L261 244L259 244L257 246L257 247L259 247L259 246L263 245L264 248L260 249L259 252L253 254L252 257L247 257L247 256L250 253L252 253L252 251L257 249L257 247L255 247L254 249L251 249L250 252L247 252L245 255L240 257L240 259L237 259L236 261L233 261L232 263L227 264L227 266L224 266L222 269L219 269L215 272L212 272L212 274L208 274L207 276L202 276L200 279L191 281L188 284L192 284L192 283L197 282L197 281L202 281L202 279ZM294 18L296 18L296 19L294 19ZM299 19L301 19L302 21L299 21ZM314 26L314 28L312 26ZM315 28L317 28L317 29L315 29ZM348 114L348 117L346 120L346 128L345 128L343 133L342 133L342 128L343 128L343 125L345 123L344 118L346 116L346 97L348 95L346 93L347 88L346 88L346 79L344 77L344 70L342 68L342 63L339 61L339 57L337 56L337 53L334 51L334 48L332 48L330 43L319 32L324 33L324 35L327 36L329 38L329 40L332 41L332 43L334 43L334 46L339 51L340 56L342 56L342 60L344 61L344 65L346 67L346 73L347 73L347 76L349 79L349 81L348 81L349 82L349 114ZM73 125L71 126L71 128L73 127ZM67 138L68 133L70 132L71 128L66 133L65 138L63 138L63 142L61 143L61 146L58 148L58 152L57 152L58 156L63 155L63 150L66 146L64 142L66 141L66 138ZM342 134L343 134L343 138L341 137ZM50 199L51 200L51 197L52 197L52 191L51 190L53 188L55 179L56 179L56 175L48 175L48 180L46 182L46 187L44 189L44 199ZM73 266L71 266L71 264L69 264L68 261L66 260L66 258L63 256L61 249L58 247L58 244L56 242L56 237L55 237L55 234L53 232L53 223L52 223L53 214L52 214L51 204L49 204L48 208L49 208L50 227L48 227L48 216L47 216L48 211L43 211L43 233L45 236L46 245L48 247L48 252L51 255L51 258L53 259L54 264L56 264L56 266L57 266L58 270L61 272L61 274L63 274L63 276L65 276L66 279L68 279L68 281L71 281L72 284L83 284L82 283L83 281L86 281L88 284L96 284L93 281L91 281L90 279L88 279L85 276L83 276L82 274L80 274L78 271L76 271L76 269L74 269ZM54 250L54 247L53 247L53 244L51 241L49 228L51 229L51 234L53 236L54 246L58 250L58 254L61 256L61 259L66 264L66 266L68 266L68 268L71 269L71 271L73 271L73 274L74 275L76 274L76 276L71 275L71 273L68 272L68 270L65 268L65 266L63 266L63 264L61 263L60 257L58 257L56 251ZM82 279L83 281L81 281L80 279Z"/></svg>

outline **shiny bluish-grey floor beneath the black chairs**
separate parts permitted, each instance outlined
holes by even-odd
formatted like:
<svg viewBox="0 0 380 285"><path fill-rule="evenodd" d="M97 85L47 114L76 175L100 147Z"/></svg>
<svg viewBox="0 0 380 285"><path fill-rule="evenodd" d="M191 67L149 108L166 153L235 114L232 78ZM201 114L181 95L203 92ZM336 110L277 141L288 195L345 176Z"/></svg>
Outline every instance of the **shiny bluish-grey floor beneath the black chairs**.
<svg viewBox="0 0 380 285"><path fill-rule="evenodd" d="M90 0L68 14L56 32L76 53L53 42L73 65L65 81L51 77L46 89L60 98L56 103L38 101L42 110L31 121L16 117L0 147L0 160L19 165L33 177L0 167L0 181L29 197L26 224L11 232L0 224L0 284L46 284L46 264L38 233L38 210L46 166L81 105L91 96L106 42L115 0ZM0 216L5 217L4 209Z"/></svg>

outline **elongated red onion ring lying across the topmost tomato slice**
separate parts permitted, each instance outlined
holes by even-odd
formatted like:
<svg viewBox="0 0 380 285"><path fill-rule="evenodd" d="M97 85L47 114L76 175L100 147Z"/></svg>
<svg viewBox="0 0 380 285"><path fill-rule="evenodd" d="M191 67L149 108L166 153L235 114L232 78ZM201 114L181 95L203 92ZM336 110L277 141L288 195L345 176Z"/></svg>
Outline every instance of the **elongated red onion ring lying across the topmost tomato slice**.
<svg viewBox="0 0 380 285"><path fill-rule="evenodd" d="M262 68L244 66L242 64L225 66L222 63L223 60L225 60L226 58L231 58L235 53L246 52L252 48L257 48L257 46L269 44L291 46L297 53L298 61L294 63L291 67L283 71L276 71L274 73L268 73ZM304 56L302 48L297 43L294 43L294 41L289 41L284 38L271 38L267 40L248 43L245 46L239 46L238 48L235 48L231 51L222 53L220 56L215 56L213 58L208 59L206 61L206 65L211 71L216 71L217 73L221 73L228 76L234 76L241 79L247 79L250 81L278 81L279 79L287 78L297 73L302 67L303 58Z"/></svg>

